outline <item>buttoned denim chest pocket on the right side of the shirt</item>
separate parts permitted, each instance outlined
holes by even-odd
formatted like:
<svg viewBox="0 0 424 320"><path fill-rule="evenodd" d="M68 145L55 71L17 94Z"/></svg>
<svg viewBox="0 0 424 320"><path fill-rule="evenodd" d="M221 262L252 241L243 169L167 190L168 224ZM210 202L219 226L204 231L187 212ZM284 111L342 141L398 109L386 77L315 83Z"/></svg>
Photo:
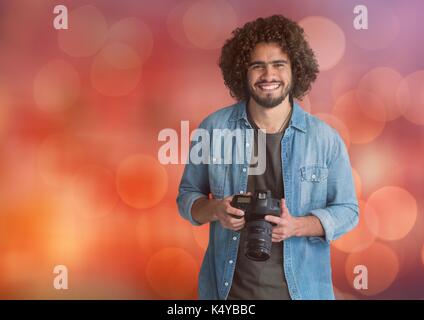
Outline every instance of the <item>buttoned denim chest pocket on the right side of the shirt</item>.
<svg viewBox="0 0 424 320"><path fill-rule="evenodd" d="M328 169L320 165L300 168L300 206L311 210L324 208L327 203Z"/></svg>

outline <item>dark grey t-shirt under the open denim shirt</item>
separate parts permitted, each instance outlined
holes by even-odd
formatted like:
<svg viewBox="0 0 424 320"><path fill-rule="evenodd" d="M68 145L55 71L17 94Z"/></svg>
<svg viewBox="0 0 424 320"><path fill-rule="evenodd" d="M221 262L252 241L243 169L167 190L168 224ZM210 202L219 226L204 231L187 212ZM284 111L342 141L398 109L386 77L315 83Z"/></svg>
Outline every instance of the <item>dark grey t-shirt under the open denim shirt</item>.
<svg viewBox="0 0 424 320"><path fill-rule="evenodd" d="M249 121L257 129L250 117ZM247 191L252 194L259 189L271 190L274 198L284 198L281 164L281 139L284 131L285 128L283 132L266 135L266 169L262 175L249 175ZM256 141L255 134L254 150L257 154ZM283 243L272 243L271 257L267 261L253 261L245 256L245 240L246 228L243 228L240 232L236 268L228 299L289 300L290 294L284 276Z"/></svg>

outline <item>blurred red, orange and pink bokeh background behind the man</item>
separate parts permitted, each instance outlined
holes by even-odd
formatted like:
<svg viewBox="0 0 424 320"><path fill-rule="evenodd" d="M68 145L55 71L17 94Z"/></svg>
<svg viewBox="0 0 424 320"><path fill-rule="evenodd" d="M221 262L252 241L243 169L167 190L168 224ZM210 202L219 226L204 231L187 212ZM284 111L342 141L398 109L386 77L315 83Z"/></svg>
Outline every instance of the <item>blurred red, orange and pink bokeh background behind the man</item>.
<svg viewBox="0 0 424 320"><path fill-rule="evenodd" d="M68 30L53 28L58 4ZM353 27L358 4L368 30ZM332 244L337 298L423 299L423 12L419 0L1 1L0 298L197 297L208 227L179 216L184 166L158 162L158 134L234 102L220 48L278 13L317 54L301 105L341 133L360 199L359 226ZM56 265L68 290L53 288ZM353 288L356 265L368 290Z"/></svg>

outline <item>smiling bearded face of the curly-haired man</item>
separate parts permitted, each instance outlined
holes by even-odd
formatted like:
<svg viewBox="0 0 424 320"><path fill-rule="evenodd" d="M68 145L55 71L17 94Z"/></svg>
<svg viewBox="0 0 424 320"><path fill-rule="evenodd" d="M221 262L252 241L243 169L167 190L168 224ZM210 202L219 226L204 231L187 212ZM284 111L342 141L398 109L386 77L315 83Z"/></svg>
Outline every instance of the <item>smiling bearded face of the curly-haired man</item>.
<svg viewBox="0 0 424 320"><path fill-rule="evenodd" d="M264 108L274 108L288 97L292 89L291 65L278 44L261 42L253 49L247 89L249 96Z"/></svg>

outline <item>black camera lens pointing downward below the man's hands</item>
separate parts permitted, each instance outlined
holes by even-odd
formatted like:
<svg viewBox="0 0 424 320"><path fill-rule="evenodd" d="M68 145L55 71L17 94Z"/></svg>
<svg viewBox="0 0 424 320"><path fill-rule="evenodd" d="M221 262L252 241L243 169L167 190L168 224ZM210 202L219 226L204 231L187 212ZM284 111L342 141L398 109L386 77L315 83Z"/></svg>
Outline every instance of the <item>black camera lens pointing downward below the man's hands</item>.
<svg viewBox="0 0 424 320"><path fill-rule="evenodd" d="M246 224L245 254L255 261L265 261L271 256L272 226L268 221L255 220Z"/></svg>

